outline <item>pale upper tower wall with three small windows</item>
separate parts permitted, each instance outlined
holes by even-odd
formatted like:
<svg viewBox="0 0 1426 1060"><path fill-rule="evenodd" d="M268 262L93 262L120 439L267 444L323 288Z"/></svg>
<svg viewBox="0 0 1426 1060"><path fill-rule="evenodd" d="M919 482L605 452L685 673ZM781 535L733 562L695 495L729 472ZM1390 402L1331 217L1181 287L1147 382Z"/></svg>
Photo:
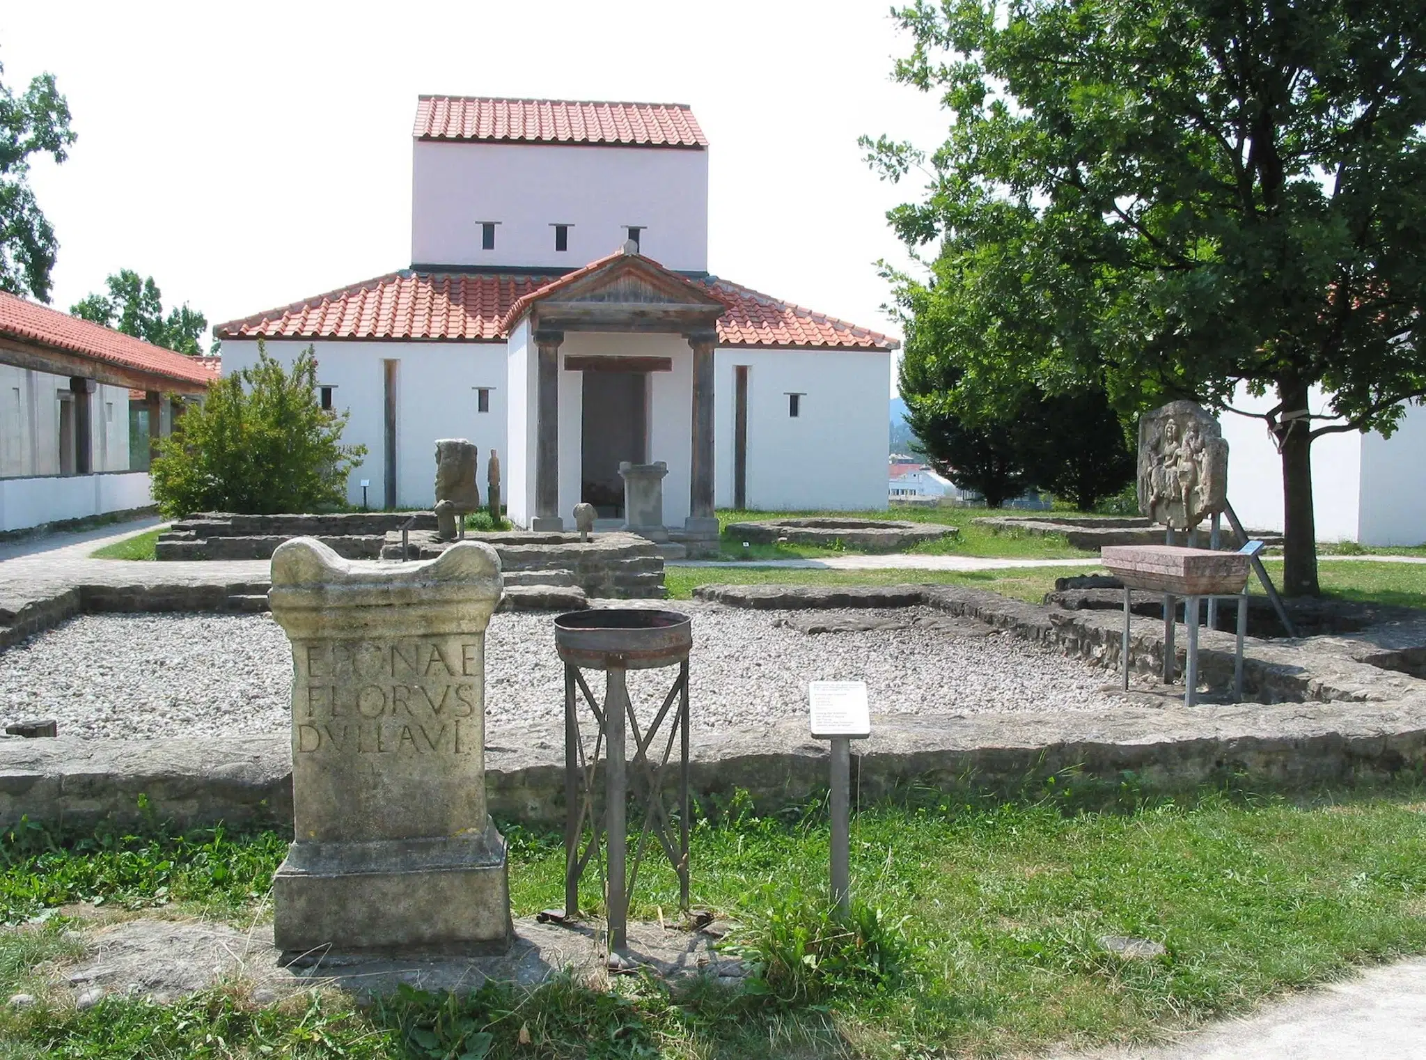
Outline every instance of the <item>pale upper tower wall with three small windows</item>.
<svg viewBox="0 0 1426 1060"><path fill-rule="evenodd" d="M411 260L419 265L579 268L640 225L640 250L707 268L707 151L414 141ZM481 223L495 221L482 250ZM569 224L555 250L553 224Z"/></svg>

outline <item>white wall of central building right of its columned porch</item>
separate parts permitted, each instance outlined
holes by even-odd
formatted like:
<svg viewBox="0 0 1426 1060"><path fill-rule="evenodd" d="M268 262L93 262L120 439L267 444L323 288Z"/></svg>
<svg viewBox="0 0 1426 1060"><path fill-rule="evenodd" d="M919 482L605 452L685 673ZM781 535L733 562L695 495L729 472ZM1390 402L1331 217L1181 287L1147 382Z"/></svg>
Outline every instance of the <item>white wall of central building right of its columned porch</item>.
<svg viewBox="0 0 1426 1060"><path fill-rule="evenodd" d="M887 506L886 352L719 350L714 484L733 506L734 367L747 375L747 505L763 511ZM790 392L801 394L789 415Z"/></svg>

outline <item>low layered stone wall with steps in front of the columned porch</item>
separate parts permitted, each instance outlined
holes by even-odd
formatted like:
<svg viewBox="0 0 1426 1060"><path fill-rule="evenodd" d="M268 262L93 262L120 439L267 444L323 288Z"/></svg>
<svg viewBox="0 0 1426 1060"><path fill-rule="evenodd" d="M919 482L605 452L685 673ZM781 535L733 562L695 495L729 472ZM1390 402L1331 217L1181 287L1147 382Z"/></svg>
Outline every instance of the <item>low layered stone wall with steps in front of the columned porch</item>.
<svg viewBox="0 0 1426 1060"><path fill-rule="evenodd" d="M406 559L434 559L451 546L434 531L406 535ZM663 556L659 546L637 534L536 534L532 531L471 532L466 541L483 541L501 556L501 569L568 571L575 585L592 598L662 599ZM388 534L384 559L401 559L401 534Z"/></svg>

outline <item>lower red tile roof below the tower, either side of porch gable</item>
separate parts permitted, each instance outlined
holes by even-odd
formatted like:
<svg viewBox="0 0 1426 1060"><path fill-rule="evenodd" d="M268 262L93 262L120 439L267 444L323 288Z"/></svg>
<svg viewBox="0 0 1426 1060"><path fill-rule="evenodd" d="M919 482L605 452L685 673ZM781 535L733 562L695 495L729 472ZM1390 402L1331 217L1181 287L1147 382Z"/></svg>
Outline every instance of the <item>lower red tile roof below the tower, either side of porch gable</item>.
<svg viewBox="0 0 1426 1060"><path fill-rule="evenodd" d="M593 263L599 264L599 263ZM586 268L589 268L586 265ZM583 274L585 270L579 270ZM232 338L456 340L501 342L501 327L525 295L568 275L525 272L412 272L402 270L351 287L220 324ZM876 331L783 302L727 280L689 281L727 307L720 347L896 350Z"/></svg>

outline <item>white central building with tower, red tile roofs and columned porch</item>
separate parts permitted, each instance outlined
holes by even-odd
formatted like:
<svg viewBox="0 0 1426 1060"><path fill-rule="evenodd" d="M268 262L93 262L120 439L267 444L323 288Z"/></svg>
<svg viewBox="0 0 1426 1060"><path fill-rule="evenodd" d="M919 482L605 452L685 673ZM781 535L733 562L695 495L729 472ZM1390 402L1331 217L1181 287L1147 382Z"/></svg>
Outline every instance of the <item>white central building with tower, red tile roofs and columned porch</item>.
<svg viewBox="0 0 1426 1060"><path fill-rule="evenodd" d="M421 97L409 270L221 324L224 371L308 345L366 445L361 501L434 501L434 442L501 452L516 525L622 514L665 461L665 522L714 504L884 508L896 342L707 271L707 141L679 104ZM615 253L610 253L615 251ZM796 471L790 471L796 469Z"/></svg>

